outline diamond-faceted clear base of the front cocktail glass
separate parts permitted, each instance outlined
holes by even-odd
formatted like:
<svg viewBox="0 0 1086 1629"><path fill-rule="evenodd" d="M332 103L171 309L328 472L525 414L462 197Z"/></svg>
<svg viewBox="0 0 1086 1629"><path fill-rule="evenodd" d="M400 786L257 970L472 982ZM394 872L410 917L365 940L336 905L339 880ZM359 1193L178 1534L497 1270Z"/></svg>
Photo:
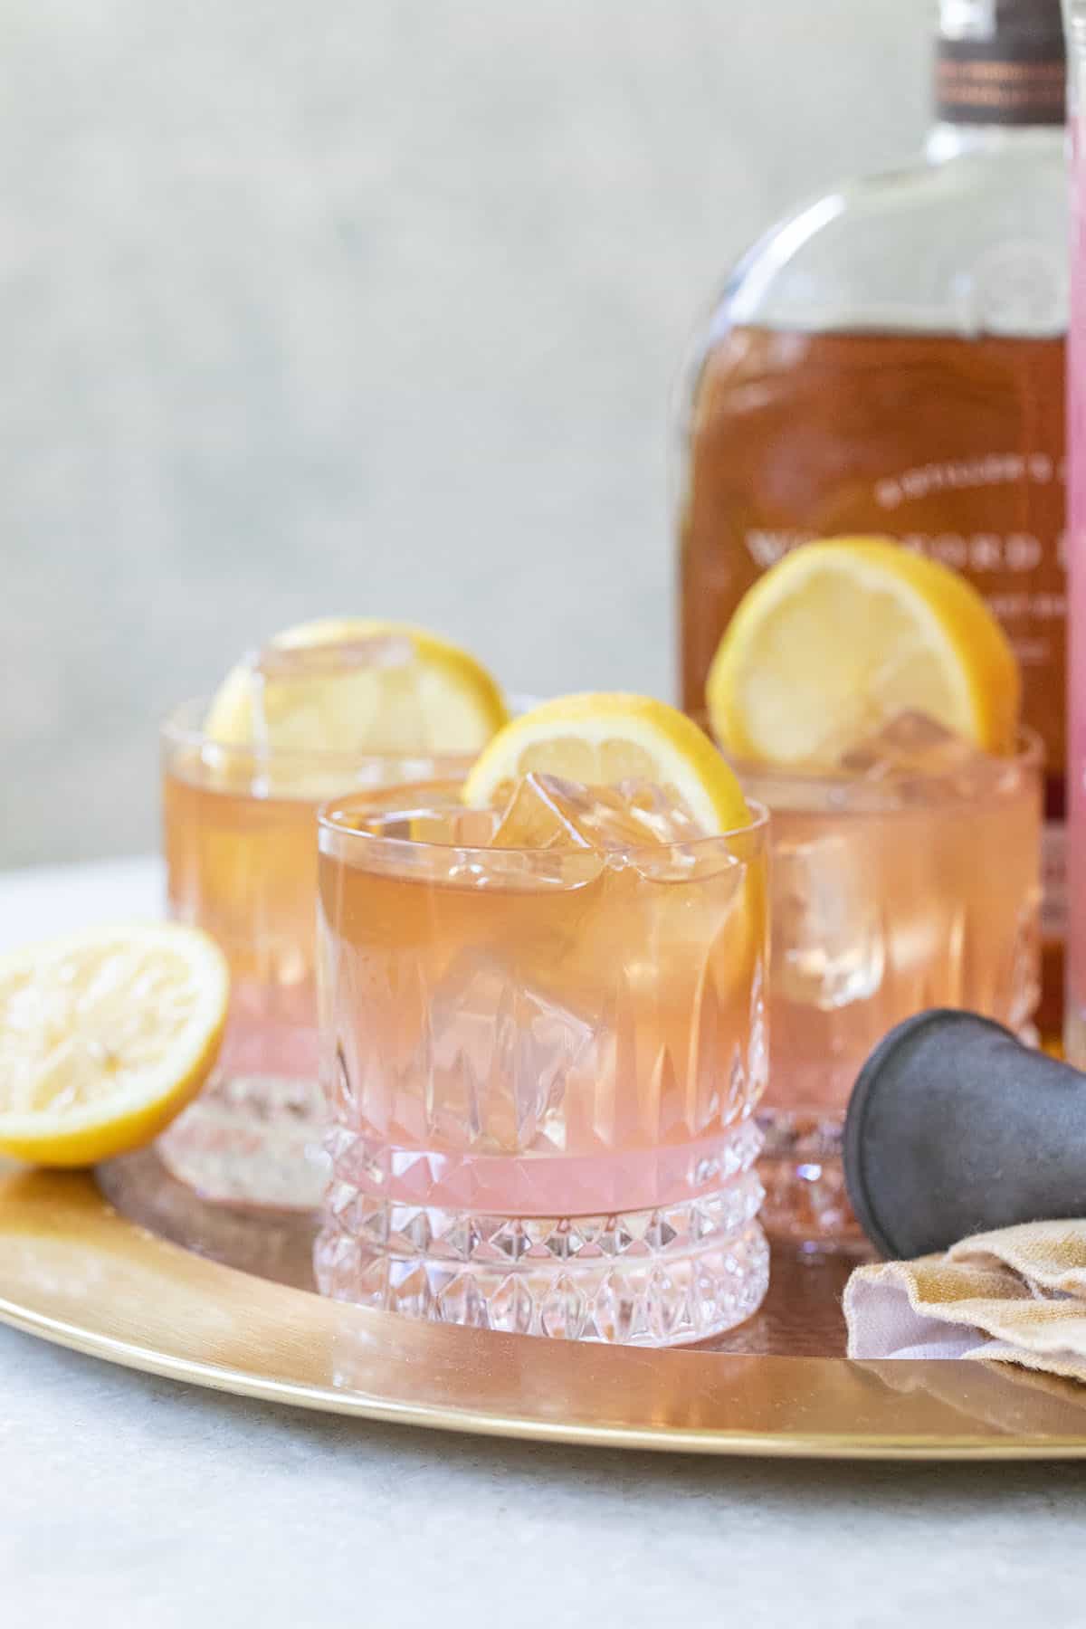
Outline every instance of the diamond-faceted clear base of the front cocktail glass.
<svg viewBox="0 0 1086 1629"><path fill-rule="evenodd" d="M392 1204L332 1184L322 1293L440 1323L627 1346L703 1341L762 1303L762 1186L598 1217L495 1217Z"/></svg>

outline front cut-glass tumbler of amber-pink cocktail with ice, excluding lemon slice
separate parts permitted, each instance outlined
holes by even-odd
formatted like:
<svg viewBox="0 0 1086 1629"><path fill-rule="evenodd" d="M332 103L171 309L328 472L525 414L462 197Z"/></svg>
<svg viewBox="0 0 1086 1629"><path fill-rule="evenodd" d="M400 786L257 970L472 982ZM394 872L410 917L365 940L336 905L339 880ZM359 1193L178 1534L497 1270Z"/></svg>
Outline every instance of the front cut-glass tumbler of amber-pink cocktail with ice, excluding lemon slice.
<svg viewBox="0 0 1086 1629"><path fill-rule="evenodd" d="M760 1302L765 819L632 797L324 811L326 1293L646 1346Z"/></svg>

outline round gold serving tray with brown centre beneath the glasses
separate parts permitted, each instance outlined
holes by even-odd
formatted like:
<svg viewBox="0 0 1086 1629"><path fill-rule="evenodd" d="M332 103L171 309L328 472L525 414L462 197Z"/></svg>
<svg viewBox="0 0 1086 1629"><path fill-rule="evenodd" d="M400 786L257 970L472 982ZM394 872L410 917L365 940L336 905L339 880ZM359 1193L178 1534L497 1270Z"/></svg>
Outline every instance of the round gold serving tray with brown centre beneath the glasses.
<svg viewBox="0 0 1086 1629"><path fill-rule="evenodd" d="M109 1196L109 1197L106 1197ZM650 1352L322 1300L311 1223L202 1205L153 1153L0 1178L0 1319L130 1368L441 1430L684 1453L1086 1458L1086 1388L1008 1365L853 1363L852 1261L775 1251L765 1308Z"/></svg>

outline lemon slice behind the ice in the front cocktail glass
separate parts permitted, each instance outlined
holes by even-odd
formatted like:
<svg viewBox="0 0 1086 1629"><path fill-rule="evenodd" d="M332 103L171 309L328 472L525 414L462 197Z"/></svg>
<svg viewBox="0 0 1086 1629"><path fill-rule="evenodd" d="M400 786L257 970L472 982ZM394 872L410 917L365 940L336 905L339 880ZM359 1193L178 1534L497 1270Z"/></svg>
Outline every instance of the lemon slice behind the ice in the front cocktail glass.
<svg viewBox="0 0 1086 1629"><path fill-rule="evenodd" d="M464 801L488 808L505 782L531 771L589 787L655 782L682 800L705 836L751 823L739 782L705 731L646 696L562 696L523 714L475 761Z"/></svg>

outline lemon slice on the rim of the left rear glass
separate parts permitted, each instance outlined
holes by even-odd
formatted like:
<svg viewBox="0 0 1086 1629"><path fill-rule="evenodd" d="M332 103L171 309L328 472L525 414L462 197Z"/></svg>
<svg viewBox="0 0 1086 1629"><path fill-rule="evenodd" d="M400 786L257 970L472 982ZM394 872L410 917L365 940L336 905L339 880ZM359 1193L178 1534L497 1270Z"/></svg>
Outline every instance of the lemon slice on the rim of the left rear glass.
<svg viewBox="0 0 1086 1629"><path fill-rule="evenodd" d="M357 647L357 660L337 666L334 645ZM212 700L207 735L277 751L477 753L508 718L487 670L422 627L327 617L267 647L272 658L304 652L329 660L238 663Z"/></svg>

